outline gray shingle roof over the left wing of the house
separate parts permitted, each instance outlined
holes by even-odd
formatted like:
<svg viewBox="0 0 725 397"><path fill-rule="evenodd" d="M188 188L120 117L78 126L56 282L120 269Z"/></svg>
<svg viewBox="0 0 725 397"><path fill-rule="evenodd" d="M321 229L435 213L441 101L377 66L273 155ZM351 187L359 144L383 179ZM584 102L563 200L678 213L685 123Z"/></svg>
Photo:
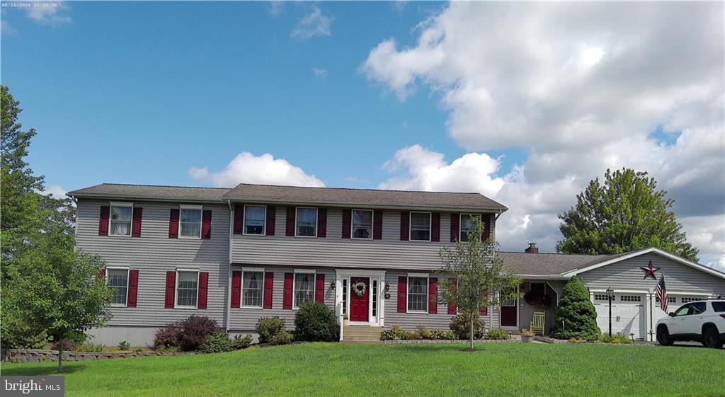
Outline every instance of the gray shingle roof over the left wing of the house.
<svg viewBox="0 0 725 397"><path fill-rule="evenodd" d="M68 192L68 196L80 198L127 198L137 200L162 200L186 202L221 202L228 188L190 188L185 186L123 185L101 183L101 185Z"/></svg>

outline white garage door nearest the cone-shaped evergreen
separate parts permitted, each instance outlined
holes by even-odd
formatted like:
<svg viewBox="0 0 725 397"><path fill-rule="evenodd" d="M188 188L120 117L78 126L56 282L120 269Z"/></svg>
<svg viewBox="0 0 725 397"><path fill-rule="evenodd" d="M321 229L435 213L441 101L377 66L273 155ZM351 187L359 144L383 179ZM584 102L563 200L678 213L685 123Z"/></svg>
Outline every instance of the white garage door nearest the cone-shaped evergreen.
<svg viewBox="0 0 725 397"><path fill-rule="evenodd" d="M594 306L597 309L597 325L602 333L609 332L609 302L605 294L595 293ZM660 310L661 312L661 310ZM615 294L612 299L612 334L619 333L629 338L645 338L645 296L638 294Z"/></svg>

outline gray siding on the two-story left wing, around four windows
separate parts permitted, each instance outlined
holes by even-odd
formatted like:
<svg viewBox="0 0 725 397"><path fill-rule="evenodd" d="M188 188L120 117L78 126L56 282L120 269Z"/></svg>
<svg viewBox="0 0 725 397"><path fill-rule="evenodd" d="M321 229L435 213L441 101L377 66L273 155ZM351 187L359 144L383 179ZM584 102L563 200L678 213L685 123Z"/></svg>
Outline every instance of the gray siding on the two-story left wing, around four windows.
<svg viewBox="0 0 725 397"><path fill-rule="evenodd" d="M189 203L194 204L194 203ZM191 316L203 315L224 324L225 291L228 280L229 209L226 204L204 204L212 210L208 240L168 238L170 209L178 204L136 201L143 208L141 237L98 235L104 200L78 200L76 248L98 254L107 266L138 269L136 307L110 307L107 325L157 327ZM176 268L209 272L207 309L165 309L166 272Z"/></svg>

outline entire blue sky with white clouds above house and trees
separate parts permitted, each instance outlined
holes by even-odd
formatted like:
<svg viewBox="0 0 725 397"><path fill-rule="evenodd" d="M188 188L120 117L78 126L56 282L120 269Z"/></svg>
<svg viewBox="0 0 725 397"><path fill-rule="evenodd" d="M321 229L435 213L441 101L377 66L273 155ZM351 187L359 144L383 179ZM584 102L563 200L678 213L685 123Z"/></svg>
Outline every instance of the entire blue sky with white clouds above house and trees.
<svg viewBox="0 0 725 397"><path fill-rule="evenodd" d="M2 7L49 191L239 182L476 191L553 251L606 169L650 172L725 269L720 3Z"/></svg>

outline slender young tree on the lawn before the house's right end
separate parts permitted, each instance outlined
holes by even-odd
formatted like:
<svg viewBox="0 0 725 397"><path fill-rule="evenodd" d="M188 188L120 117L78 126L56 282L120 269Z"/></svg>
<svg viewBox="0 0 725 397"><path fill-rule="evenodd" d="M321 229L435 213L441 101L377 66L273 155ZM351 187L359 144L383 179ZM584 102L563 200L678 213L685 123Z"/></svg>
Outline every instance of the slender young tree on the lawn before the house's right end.
<svg viewBox="0 0 725 397"><path fill-rule="evenodd" d="M471 351L473 351L473 325L481 308L499 305L502 300L515 297L521 280L514 277L496 254L492 238L481 241L484 224L480 217L472 217L473 230L468 241L457 240L455 246L443 246L439 256L443 266L439 273L449 277L449 283L440 283L440 296L455 304L458 312L471 319Z"/></svg>

